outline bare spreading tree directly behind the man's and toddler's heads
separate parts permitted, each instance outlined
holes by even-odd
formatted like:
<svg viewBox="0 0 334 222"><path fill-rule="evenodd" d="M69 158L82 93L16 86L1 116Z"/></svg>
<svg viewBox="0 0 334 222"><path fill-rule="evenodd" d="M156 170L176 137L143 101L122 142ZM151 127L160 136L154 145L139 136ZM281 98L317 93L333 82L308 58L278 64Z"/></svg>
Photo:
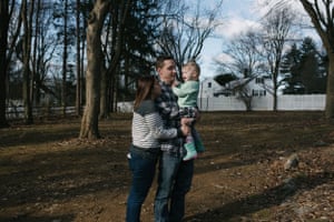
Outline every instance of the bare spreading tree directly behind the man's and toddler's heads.
<svg viewBox="0 0 334 222"><path fill-rule="evenodd" d="M171 54L180 65L191 59L199 59L205 40L219 26L216 18L223 0L216 2L212 10L206 10L197 0L194 13L184 1L169 0L163 17L163 30L157 43L160 51Z"/></svg>

